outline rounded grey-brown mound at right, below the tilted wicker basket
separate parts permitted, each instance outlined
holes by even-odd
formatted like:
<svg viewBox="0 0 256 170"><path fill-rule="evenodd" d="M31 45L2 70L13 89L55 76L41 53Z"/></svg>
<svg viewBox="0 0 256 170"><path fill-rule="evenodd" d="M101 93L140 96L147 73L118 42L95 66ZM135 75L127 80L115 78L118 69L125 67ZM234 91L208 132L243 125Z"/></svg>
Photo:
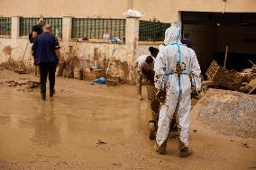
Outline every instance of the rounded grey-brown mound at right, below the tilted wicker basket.
<svg viewBox="0 0 256 170"><path fill-rule="evenodd" d="M197 119L213 130L242 138L256 138L256 95L209 89L199 101Z"/></svg>

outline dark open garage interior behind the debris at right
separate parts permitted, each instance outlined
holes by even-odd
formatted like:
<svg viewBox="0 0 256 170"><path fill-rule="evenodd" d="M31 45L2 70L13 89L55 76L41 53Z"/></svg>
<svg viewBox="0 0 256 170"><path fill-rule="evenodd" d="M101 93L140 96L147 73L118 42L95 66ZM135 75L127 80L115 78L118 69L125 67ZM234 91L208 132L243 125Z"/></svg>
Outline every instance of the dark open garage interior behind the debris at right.
<svg viewBox="0 0 256 170"><path fill-rule="evenodd" d="M203 75L215 59L241 71L256 64L256 13L181 13L182 32L189 33Z"/></svg>

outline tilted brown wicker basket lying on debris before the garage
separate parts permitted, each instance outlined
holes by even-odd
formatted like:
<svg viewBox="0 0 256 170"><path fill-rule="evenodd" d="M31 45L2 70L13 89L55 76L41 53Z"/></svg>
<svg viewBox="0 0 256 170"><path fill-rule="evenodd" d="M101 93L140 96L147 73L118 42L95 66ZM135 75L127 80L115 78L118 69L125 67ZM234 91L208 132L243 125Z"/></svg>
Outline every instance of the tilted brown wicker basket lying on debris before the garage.
<svg viewBox="0 0 256 170"><path fill-rule="evenodd" d="M216 61L213 61L211 66L208 67L206 76L209 80L213 81L215 85L224 86L231 90L239 90L242 84L242 77L238 72L220 67Z"/></svg>

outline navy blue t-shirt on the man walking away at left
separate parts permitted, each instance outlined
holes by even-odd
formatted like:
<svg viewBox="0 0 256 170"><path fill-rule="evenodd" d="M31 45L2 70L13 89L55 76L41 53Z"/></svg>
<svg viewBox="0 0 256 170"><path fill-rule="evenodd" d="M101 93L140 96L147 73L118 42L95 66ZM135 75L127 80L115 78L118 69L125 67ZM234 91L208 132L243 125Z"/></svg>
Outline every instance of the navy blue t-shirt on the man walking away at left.
<svg viewBox="0 0 256 170"><path fill-rule="evenodd" d="M35 54L35 63L58 63L55 49L59 49L58 39L50 32L43 32L39 35L32 45Z"/></svg>

